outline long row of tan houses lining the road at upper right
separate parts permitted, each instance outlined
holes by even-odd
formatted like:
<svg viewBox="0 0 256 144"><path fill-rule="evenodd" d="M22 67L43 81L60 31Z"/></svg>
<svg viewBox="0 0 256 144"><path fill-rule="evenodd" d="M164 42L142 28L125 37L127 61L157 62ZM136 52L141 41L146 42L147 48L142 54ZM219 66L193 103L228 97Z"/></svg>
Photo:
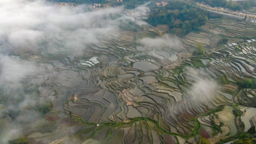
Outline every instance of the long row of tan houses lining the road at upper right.
<svg viewBox="0 0 256 144"><path fill-rule="evenodd" d="M233 11L231 9L227 9L227 8L223 8L223 7L211 7L210 5L204 5L202 3L196 3L197 6L200 6L204 9L208 9L208 10L213 10L216 12L223 12L223 13L229 13L231 15L236 15L236 16L241 16L241 17L245 17L247 16L247 18L252 18L252 19L256 19L256 15L252 15L252 14L247 14L247 13L242 13L242 11L244 12L245 10L241 10L241 11Z"/></svg>

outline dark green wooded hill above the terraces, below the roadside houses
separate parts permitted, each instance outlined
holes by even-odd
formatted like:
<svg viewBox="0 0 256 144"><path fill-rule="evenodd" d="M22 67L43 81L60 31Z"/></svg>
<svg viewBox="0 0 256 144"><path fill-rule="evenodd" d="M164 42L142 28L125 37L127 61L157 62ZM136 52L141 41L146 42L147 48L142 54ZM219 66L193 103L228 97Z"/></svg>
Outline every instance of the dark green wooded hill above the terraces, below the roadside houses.
<svg viewBox="0 0 256 144"><path fill-rule="evenodd" d="M168 24L173 28L175 21L180 19L181 22L177 26L182 28L182 34L186 35L191 30L199 30L205 21L208 20L208 12L182 1L171 1L162 9L154 7L147 22L156 26L158 24Z"/></svg>

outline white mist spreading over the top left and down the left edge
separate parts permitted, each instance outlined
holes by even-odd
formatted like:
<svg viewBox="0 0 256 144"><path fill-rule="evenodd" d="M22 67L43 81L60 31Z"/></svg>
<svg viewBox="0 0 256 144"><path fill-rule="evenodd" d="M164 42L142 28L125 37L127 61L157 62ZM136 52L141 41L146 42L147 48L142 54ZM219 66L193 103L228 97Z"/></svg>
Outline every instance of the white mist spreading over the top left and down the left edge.
<svg viewBox="0 0 256 144"><path fill-rule="evenodd" d="M149 10L146 4L137 7L141 13L145 9ZM37 119L42 115L42 107L37 105L51 103L39 97L36 85L26 88L28 85L22 83L24 78L40 71L39 65L13 55L12 50L71 51L76 55L86 49L86 43L98 43L101 37L114 33L120 22L134 19L123 15L123 10L124 7L91 9L88 5L59 7L46 0L1 0L0 98L5 102L0 104L0 116L4 118L0 120L1 129L13 120L27 123ZM1 131L1 143L17 137L18 130Z"/></svg>

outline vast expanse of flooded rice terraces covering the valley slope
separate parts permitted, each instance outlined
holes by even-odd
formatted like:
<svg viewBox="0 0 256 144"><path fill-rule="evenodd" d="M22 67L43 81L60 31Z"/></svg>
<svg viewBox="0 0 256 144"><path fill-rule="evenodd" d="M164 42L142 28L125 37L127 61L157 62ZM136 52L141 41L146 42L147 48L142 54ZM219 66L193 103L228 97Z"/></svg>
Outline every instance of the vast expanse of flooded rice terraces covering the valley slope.
<svg viewBox="0 0 256 144"><path fill-rule="evenodd" d="M239 105L245 100L237 95L236 83L256 78L255 25L237 22L234 27L228 19L210 19L202 28L181 40L171 33L115 31L98 43L85 40L75 55L58 49L13 50L36 62L37 72L24 82L40 86L40 96L52 100L52 111L33 123L12 126L31 144L236 138L244 125L233 111L248 108ZM229 46L217 47L222 36L230 38ZM248 41L241 43L238 36ZM192 56L198 42L206 54Z"/></svg>

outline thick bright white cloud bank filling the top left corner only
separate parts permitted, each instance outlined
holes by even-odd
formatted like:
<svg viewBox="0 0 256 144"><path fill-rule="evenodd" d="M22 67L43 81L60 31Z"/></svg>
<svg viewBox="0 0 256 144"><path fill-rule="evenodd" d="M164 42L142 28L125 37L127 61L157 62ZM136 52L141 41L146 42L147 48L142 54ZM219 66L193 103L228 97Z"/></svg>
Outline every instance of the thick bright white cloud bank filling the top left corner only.
<svg viewBox="0 0 256 144"><path fill-rule="evenodd" d="M62 45L70 49L70 44L75 44L73 48L77 49L88 39L98 42L98 35L112 32L116 23L110 24L108 15L122 10L118 7L90 11L86 5L58 7L45 0L0 1L0 43L6 46L2 49L36 49L38 43L45 41L48 48Z"/></svg>

